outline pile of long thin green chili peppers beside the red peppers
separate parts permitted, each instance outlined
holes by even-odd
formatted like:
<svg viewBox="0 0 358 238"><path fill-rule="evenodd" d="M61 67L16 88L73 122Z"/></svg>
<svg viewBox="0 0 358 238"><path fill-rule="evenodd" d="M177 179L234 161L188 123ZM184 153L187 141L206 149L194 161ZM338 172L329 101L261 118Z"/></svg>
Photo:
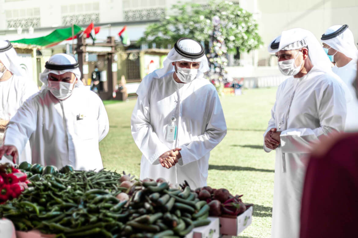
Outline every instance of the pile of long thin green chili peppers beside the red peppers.
<svg viewBox="0 0 358 238"><path fill-rule="evenodd" d="M44 174L18 198L0 205L0 217L13 221L19 231L114 237L124 226L118 216L125 202L120 203L116 195L127 188L119 187L120 177L105 170Z"/></svg>

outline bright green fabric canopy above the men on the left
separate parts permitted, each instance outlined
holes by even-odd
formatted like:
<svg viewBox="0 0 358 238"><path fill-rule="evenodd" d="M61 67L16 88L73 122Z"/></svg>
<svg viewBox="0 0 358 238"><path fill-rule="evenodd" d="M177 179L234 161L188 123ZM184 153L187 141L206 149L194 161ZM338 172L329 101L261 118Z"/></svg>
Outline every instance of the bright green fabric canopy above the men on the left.
<svg viewBox="0 0 358 238"><path fill-rule="evenodd" d="M83 31L83 28L77 25L73 25L73 34L76 35L79 32ZM11 41L13 43L25 44L25 45L37 45L48 47L51 45L56 45L61 41L72 38L72 26L62 29L56 29L47 36L41 36L36 38L24 38L20 40Z"/></svg>

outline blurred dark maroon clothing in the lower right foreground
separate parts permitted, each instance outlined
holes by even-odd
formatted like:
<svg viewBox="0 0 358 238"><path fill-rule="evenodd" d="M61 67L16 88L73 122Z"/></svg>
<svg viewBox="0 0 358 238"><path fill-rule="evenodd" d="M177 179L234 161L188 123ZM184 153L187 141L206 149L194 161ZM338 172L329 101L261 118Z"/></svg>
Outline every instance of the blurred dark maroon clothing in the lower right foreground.
<svg viewBox="0 0 358 238"><path fill-rule="evenodd" d="M358 133L311 156L303 189L300 238L358 237Z"/></svg>

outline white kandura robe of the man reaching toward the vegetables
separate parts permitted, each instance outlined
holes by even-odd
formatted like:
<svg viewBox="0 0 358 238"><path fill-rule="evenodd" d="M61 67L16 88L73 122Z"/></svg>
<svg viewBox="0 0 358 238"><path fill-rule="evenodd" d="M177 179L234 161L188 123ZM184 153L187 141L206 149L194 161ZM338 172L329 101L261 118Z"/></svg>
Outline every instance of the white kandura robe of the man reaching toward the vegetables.
<svg viewBox="0 0 358 238"><path fill-rule="evenodd" d="M31 136L32 163L98 171L103 168L98 142L108 130L107 112L96 93L75 87L61 101L44 88L10 120L4 145L14 145L21 152Z"/></svg>

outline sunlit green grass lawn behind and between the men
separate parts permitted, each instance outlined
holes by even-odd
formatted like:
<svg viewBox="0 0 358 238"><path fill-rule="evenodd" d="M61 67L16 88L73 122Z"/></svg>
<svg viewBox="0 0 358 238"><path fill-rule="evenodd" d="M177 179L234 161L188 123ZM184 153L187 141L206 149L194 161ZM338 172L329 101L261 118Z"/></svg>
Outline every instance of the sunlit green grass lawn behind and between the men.
<svg viewBox="0 0 358 238"><path fill-rule="evenodd" d="M254 203L252 224L239 236L270 237L274 191L275 153L262 149L262 134L271 116L276 88L245 90L241 96L221 98L227 135L211 152L208 185L244 194ZM105 101L110 132L100 142L104 166L139 176L141 153L130 132L130 117L136 100Z"/></svg>

